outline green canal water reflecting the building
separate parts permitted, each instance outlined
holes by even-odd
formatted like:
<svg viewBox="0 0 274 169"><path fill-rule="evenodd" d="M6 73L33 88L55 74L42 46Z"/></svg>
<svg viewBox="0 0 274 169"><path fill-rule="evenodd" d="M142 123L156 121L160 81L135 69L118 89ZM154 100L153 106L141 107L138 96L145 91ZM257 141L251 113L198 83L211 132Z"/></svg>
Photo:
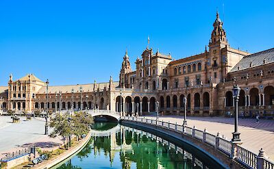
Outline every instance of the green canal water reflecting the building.
<svg viewBox="0 0 274 169"><path fill-rule="evenodd" d="M59 169L221 168L203 153L166 135L114 122L96 122L93 130L82 151L59 164Z"/></svg>

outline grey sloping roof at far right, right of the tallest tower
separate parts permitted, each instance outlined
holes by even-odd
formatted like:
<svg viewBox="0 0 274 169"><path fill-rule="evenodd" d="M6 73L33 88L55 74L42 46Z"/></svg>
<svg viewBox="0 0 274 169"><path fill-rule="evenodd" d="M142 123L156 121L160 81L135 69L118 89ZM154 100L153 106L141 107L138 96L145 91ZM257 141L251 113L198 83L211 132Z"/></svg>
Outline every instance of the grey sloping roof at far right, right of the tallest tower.
<svg viewBox="0 0 274 169"><path fill-rule="evenodd" d="M230 70L230 73L270 63L274 63L274 48L242 57L242 60Z"/></svg>

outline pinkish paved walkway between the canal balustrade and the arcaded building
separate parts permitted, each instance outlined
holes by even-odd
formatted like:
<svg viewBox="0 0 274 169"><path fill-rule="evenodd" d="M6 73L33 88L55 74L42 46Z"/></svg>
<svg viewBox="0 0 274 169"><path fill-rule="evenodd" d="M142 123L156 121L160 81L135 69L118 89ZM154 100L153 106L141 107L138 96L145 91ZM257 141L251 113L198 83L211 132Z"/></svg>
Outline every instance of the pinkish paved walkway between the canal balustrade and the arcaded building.
<svg viewBox="0 0 274 169"><path fill-rule="evenodd" d="M155 116L146 116L146 118L153 118ZM183 116L160 116L159 120L166 122L177 122L182 125L184 121ZM207 129L208 133L216 135L220 133L228 140L232 139L232 132L234 131L234 118L219 118L219 117L187 117L188 127L195 126L196 129ZM249 151L258 154L260 148L263 148L266 155L274 161L274 120L260 120L239 118L238 130L240 131L240 139L242 140L242 147Z"/></svg>

